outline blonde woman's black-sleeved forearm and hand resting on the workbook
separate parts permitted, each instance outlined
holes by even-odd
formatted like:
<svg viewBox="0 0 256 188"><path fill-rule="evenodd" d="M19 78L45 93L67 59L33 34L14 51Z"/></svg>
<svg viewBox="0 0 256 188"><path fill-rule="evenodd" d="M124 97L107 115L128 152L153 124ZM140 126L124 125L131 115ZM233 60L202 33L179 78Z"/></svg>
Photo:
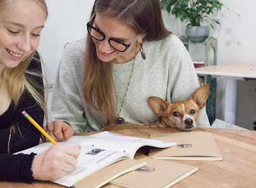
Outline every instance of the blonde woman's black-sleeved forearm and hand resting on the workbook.
<svg viewBox="0 0 256 188"><path fill-rule="evenodd" d="M0 154L0 181L52 181L72 172L80 146L56 145L41 154ZM72 162L71 162L72 161Z"/></svg>

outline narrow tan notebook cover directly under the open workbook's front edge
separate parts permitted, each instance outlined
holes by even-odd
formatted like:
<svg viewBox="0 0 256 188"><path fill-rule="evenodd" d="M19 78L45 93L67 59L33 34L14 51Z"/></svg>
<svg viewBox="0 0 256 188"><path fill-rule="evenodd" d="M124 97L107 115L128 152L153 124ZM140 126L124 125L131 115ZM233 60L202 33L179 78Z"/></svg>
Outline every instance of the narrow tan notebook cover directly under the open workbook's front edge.
<svg viewBox="0 0 256 188"><path fill-rule="evenodd" d="M112 181L116 177L119 177L127 172L134 171L139 169L143 166L146 166L147 162L145 161L137 161L134 159L125 159L110 166L101 169L93 173L92 175L86 177L82 181L78 182L77 184L73 185L73 187L77 188L96 188L102 187L108 182Z"/></svg>

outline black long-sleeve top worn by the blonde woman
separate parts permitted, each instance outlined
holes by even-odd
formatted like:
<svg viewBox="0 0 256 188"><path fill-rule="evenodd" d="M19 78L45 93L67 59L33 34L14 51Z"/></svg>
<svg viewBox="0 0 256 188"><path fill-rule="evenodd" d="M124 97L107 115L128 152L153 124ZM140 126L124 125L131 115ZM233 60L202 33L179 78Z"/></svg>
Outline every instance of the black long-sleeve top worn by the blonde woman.
<svg viewBox="0 0 256 188"><path fill-rule="evenodd" d="M41 73L40 57L37 53L35 53L34 57L29 63L27 70ZM39 87L36 90L44 96L43 79L30 74L29 78L38 84ZM34 181L31 164L35 154L13 155L14 152L38 145L40 141L40 131L21 114L23 111L28 112L29 116L33 117L40 126L43 126L43 109L26 90L23 92L17 108L14 109L14 103L11 102L8 110L0 116L0 180L3 181ZM19 129L15 129L15 132L11 134L9 144L11 154L7 154L10 127L12 125L18 125Z"/></svg>

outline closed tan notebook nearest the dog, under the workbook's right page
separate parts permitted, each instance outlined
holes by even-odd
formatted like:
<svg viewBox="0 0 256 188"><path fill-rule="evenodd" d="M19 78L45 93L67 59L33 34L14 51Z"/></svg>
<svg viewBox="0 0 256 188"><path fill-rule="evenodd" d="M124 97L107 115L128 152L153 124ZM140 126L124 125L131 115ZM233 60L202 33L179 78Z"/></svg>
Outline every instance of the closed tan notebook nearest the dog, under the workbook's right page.
<svg viewBox="0 0 256 188"><path fill-rule="evenodd" d="M210 132L173 132L151 134L151 139L177 142L167 149L149 149L154 159L221 161L222 157Z"/></svg>

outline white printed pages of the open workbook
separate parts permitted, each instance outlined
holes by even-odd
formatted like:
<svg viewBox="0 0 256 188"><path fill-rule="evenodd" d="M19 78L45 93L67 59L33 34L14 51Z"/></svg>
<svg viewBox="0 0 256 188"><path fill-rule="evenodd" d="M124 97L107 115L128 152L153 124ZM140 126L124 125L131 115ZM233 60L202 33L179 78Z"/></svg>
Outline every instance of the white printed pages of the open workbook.
<svg viewBox="0 0 256 188"><path fill-rule="evenodd" d="M85 177L90 176L94 172L114 162L122 159L134 159L137 150L142 146L166 148L176 145L174 142L129 137L107 131L90 136L72 136L66 141L58 142L58 144L81 146L80 156L78 157L78 164L75 170L70 172L67 176L53 181L56 184L67 187L73 186ZM53 146L51 142L45 142L18 153L30 154L34 152L40 154L51 146Z"/></svg>

